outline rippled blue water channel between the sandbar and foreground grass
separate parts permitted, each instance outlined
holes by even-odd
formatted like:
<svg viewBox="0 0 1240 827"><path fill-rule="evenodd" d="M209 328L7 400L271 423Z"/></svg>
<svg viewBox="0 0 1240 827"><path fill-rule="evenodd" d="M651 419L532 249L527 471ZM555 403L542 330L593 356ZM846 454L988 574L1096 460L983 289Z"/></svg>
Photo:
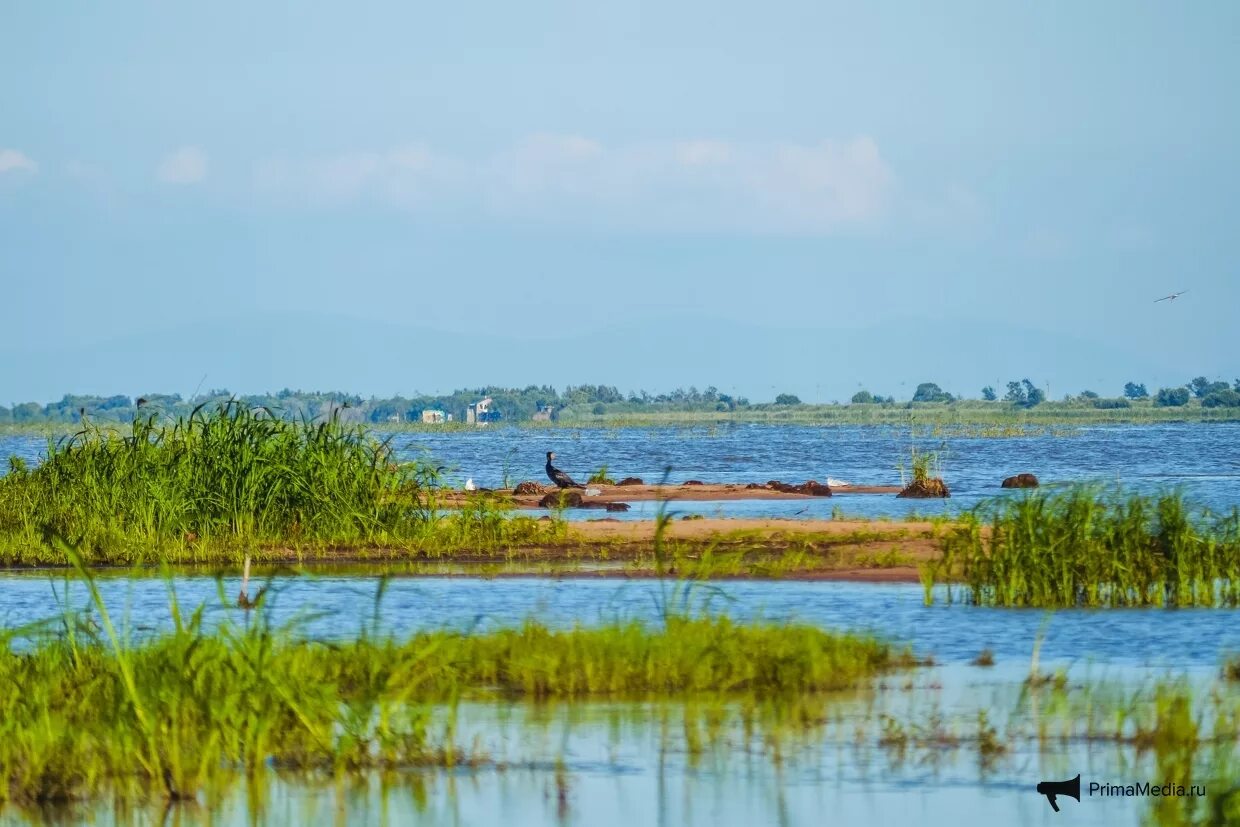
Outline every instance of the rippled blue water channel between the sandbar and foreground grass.
<svg viewBox="0 0 1240 827"><path fill-rule="evenodd" d="M136 632L167 629L169 584L157 578L105 577L99 589L109 613ZM212 622L244 622L232 599L241 582L177 577L186 608L208 606ZM963 663L990 648L999 661L1028 663L1043 635L1043 662L1076 666L1215 670L1240 652L1240 610L1106 609L1034 611L940 601L924 605L920 585L740 580L691 586L655 580L544 578L393 578L376 611L372 577L272 579L269 610L277 624L296 621L310 637L352 637L363 630L407 635L427 629L487 629L537 619L553 626L614 620L658 622L665 606L688 606L738 620L795 620L859 630L911 643L920 655ZM86 609L84 585L63 574L0 574L0 624L17 627L55 614L57 605Z"/></svg>

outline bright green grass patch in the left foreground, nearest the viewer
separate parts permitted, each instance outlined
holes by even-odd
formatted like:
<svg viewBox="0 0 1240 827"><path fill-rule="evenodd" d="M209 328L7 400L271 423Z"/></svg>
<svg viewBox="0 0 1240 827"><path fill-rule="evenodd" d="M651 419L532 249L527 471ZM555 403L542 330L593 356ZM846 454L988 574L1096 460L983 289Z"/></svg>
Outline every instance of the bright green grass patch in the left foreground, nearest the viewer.
<svg viewBox="0 0 1240 827"><path fill-rule="evenodd" d="M58 630L0 640L0 803L210 800L268 766L480 761L454 741L461 699L795 698L911 665L870 637L724 617L325 642L273 626L262 606L207 629L203 609L185 616L171 588L172 631L130 640L64 551L98 621L64 615Z"/></svg>

